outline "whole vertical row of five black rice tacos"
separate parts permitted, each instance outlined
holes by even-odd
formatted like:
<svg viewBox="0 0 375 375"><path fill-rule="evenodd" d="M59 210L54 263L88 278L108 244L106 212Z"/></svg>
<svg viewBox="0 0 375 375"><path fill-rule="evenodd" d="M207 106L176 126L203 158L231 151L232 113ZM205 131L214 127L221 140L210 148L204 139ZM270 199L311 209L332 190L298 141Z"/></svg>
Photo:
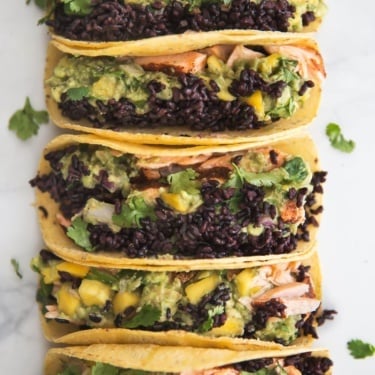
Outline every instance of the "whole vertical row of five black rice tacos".
<svg viewBox="0 0 375 375"><path fill-rule="evenodd" d="M48 4L47 108L83 134L30 181L42 327L70 345L45 373L330 374L304 132L323 1Z"/></svg>

